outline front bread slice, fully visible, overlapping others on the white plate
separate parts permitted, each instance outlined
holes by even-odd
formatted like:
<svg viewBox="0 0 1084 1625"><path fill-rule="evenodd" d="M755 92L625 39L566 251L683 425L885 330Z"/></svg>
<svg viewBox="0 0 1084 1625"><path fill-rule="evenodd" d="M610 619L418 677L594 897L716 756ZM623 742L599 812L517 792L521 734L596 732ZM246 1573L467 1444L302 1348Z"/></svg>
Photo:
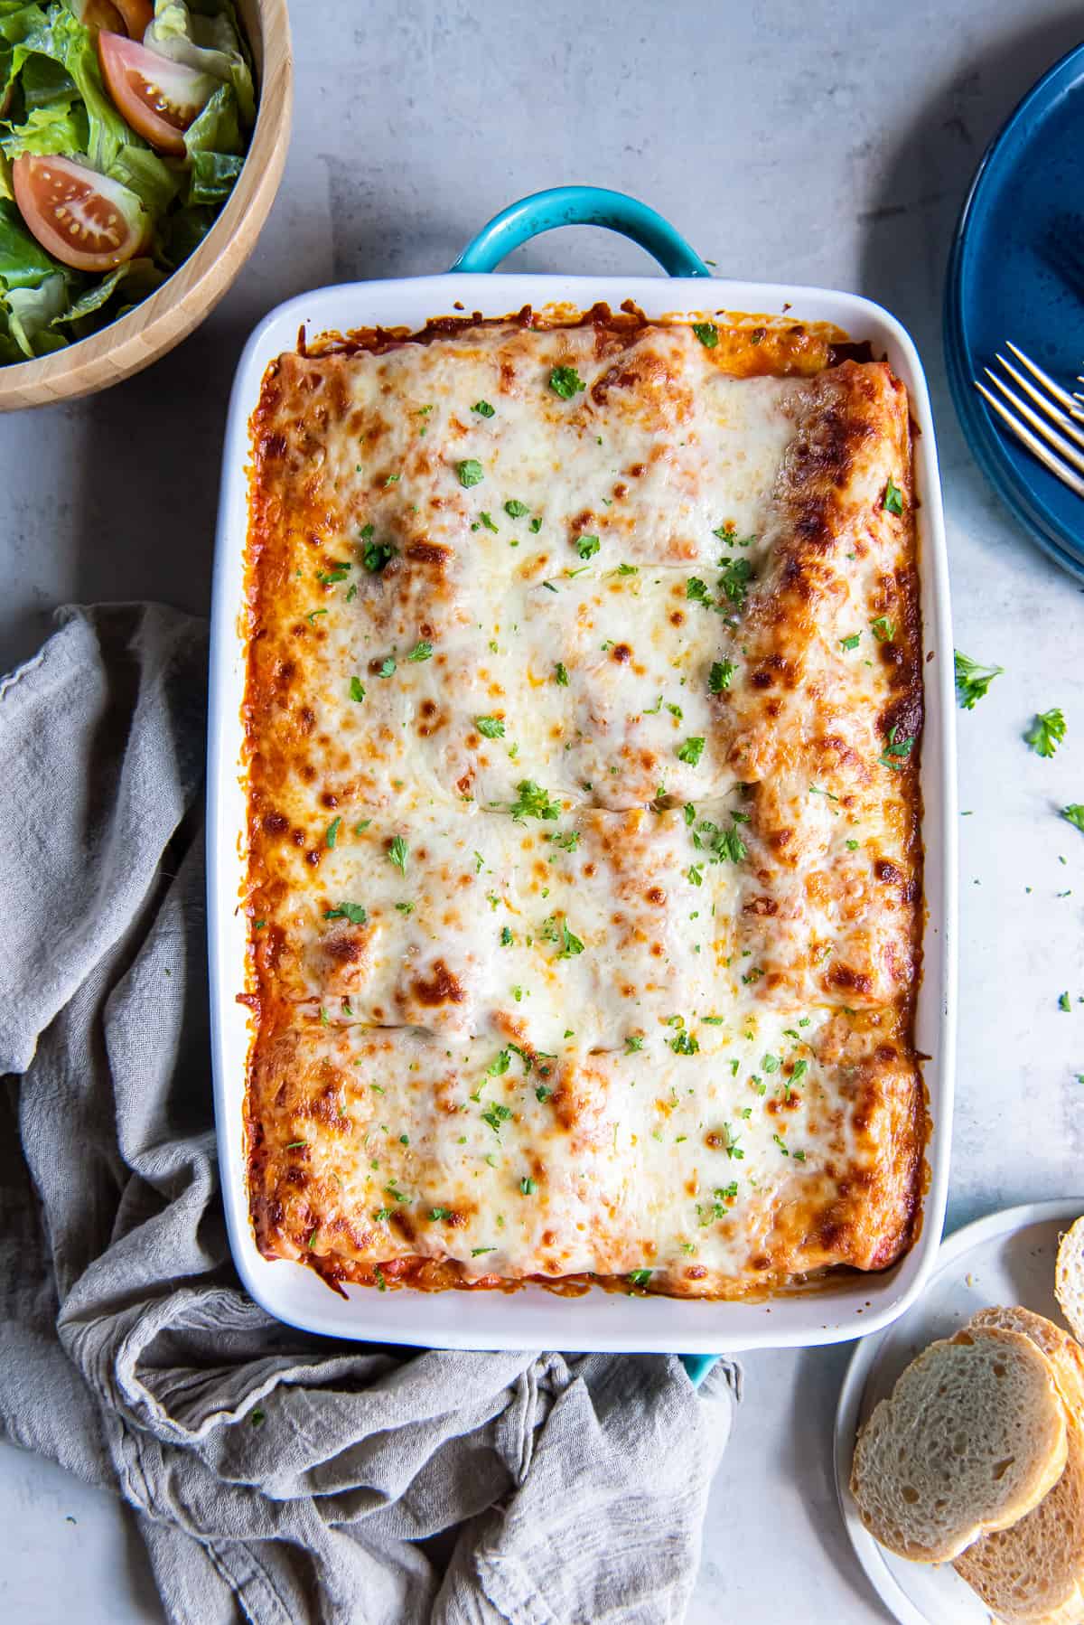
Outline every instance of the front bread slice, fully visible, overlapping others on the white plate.
<svg viewBox="0 0 1084 1625"><path fill-rule="evenodd" d="M866 1529L918 1563L959 1557L1047 1495L1066 1407L1047 1355L996 1326L933 1342L858 1435L850 1488Z"/></svg>

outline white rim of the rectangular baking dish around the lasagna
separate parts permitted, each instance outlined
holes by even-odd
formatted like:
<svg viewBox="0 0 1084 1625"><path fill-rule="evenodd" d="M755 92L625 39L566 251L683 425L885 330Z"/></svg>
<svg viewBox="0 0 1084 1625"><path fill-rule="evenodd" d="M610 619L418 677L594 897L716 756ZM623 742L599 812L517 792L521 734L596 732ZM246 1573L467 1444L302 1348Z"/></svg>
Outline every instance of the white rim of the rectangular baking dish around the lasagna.
<svg viewBox="0 0 1084 1625"><path fill-rule="evenodd" d="M375 1292L348 1289L341 1298L301 1264L260 1256L249 1222L244 1147L245 1058L250 1014L237 1003L245 980L245 921L237 907L244 879L245 796L241 782L244 692L244 546L247 526L249 418L268 362L328 328L419 328L427 317L460 309L504 315L523 304L553 302L614 309L634 299L652 317L748 310L793 320L834 322L852 340L887 356L910 392L918 434L918 544L926 665L926 723L921 746L926 850L925 973L918 996L917 1048L930 1056L925 1079L933 1134L921 1232L910 1253L884 1274L840 1274L816 1292L764 1302L710 1303L626 1297L593 1290L566 1298L528 1285L518 1292ZM930 658L933 656L933 658ZM624 1349L718 1354L736 1349L839 1342L886 1326L915 1298L933 1264L944 1217L956 1016L956 769L952 634L941 486L930 398L918 354L900 323L855 294L769 283L689 278L585 278L444 275L410 281L346 283L291 299L249 340L237 367L226 429L215 562L208 762L208 936L215 1107L223 1196L234 1259L252 1297L283 1321L310 1331L379 1342L458 1349Z"/></svg>

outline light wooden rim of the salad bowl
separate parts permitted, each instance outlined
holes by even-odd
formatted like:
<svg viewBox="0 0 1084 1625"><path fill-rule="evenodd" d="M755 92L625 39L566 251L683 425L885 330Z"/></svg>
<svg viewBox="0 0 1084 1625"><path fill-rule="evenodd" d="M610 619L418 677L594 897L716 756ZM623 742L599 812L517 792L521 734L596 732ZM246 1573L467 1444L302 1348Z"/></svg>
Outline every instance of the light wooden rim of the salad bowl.
<svg viewBox="0 0 1084 1625"><path fill-rule="evenodd" d="M213 228L148 299L101 333L39 361L0 366L0 411L49 406L109 388L158 361L208 315L255 249L283 179L294 101L286 0L237 0L258 91L237 184Z"/></svg>

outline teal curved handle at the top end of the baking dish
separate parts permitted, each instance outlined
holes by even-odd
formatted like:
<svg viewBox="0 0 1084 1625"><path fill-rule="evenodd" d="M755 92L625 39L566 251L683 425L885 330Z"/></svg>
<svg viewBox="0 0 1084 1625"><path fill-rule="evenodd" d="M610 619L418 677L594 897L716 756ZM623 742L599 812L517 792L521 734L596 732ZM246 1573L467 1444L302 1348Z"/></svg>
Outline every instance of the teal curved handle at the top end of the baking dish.
<svg viewBox="0 0 1084 1625"><path fill-rule="evenodd" d="M453 271L494 271L514 249L556 226L605 226L631 237L671 276L710 276L699 254L647 203L605 187L549 187L509 203L473 237Z"/></svg>

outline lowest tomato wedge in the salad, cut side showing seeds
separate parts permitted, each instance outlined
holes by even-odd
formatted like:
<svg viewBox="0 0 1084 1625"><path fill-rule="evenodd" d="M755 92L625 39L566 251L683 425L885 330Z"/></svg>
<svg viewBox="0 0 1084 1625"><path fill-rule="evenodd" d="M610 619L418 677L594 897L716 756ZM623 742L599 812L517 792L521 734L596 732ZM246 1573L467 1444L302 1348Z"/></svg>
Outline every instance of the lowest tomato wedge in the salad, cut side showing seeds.
<svg viewBox="0 0 1084 1625"><path fill-rule="evenodd" d="M150 242L151 218L137 195L85 164L23 153L11 180L28 229L76 271L111 271Z"/></svg>

